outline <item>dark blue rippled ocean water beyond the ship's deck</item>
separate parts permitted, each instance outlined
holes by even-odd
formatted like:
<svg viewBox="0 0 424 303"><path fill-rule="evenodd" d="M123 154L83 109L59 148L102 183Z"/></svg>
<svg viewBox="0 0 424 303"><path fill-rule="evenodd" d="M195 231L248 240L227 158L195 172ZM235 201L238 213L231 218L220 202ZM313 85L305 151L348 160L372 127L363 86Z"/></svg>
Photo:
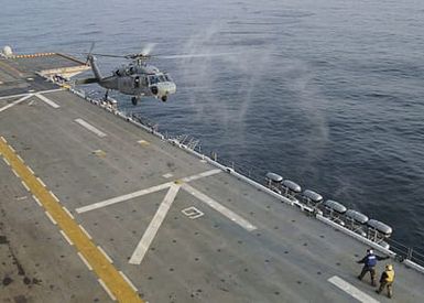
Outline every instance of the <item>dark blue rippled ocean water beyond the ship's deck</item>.
<svg viewBox="0 0 424 303"><path fill-rule="evenodd" d="M156 59L177 94L120 107L273 171L424 251L424 1L4 1L15 52L236 53ZM120 59L99 59L108 74ZM89 89L98 89L90 87ZM100 89L98 89L100 90Z"/></svg>

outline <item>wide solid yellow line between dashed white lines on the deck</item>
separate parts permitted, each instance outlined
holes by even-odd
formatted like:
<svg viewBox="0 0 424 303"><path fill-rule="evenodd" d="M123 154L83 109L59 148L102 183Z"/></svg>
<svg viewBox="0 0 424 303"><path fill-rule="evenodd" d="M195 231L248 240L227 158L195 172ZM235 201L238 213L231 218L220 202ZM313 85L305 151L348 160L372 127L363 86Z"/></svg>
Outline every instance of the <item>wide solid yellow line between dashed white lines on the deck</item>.
<svg viewBox="0 0 424 303"><path fill-rule="evenodd" d="M6 140L0 140L0 154L8 160L19 177L24 181L31 193L37 197L45 210L54 218L58 227L65 232L77 250L87 260L106 286L119 302L144 302L134 292L132 286L122 278L119 271L101 253L97 246L79 228L78 224L69 217L52 194L31 173L25 164L19 160Z"/></svg>

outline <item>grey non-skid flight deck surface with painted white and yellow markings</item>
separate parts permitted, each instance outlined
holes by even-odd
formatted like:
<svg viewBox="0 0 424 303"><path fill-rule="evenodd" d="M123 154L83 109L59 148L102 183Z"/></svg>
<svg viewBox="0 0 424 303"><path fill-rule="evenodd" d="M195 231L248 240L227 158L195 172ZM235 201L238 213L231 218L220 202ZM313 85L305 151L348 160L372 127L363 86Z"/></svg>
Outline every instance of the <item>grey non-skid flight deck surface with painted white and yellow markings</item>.
<svg viewBox="0 0 424 303"><path fill-rule="evenodd" d="M0 300L389 302L356 279L362 244L68 91L40 94L0 98ZM394 268L390 302L424 302L424 277Z"/></svg>

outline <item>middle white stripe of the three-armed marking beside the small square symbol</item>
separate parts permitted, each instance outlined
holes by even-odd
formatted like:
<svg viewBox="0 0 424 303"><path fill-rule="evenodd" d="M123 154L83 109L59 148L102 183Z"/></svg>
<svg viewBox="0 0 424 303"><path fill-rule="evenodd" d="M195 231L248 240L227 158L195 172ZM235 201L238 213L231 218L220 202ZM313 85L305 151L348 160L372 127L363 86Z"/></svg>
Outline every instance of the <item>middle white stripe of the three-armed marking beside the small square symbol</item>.
<svg viewBox="0 0 424 303"><path fill-rule="evenodd" d="M171 208L172 203L175 199L176 194L180 191L180 185L172 184L170 190L166 193L163 202L157 208L156 214L154 214L153 219L150 221L148 229L144 231L143 237L141 238L139 245L137 246L134 252L131 256L129 263L140 264L144 258L145 252L148 251L150 245L152 244L159 228L161 227L163 220L166 217L167 212Z"/></svg>

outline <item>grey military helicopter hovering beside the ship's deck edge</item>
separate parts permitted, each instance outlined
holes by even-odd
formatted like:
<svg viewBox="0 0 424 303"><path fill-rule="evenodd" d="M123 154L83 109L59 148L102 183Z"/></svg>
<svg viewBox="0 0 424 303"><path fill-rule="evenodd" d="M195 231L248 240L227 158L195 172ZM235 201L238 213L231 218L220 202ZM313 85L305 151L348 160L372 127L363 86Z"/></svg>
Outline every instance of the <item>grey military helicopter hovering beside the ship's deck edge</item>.
<svg viewBox="0 0 424 303"><path fill-rule="evenodd" d="M107 89L105 100L107 100L110 89L132 96L131 101L134 106L137 106L138 101L144 96L154 97L165 102L170 95L175 94L176 85L171 76L165 72L161 72L157 67L146 63L152 57L149 54L149 48L143 50L141 53L129 55L96 54L91 53L91 50L87 54L87 64L89 63L91 66L95 77L77 79L75 84L97 83ZM122 57L131 59L132 62L128 65L116 68L111 76L105 77L101 75L96 63L96 56Z"/></svg>

